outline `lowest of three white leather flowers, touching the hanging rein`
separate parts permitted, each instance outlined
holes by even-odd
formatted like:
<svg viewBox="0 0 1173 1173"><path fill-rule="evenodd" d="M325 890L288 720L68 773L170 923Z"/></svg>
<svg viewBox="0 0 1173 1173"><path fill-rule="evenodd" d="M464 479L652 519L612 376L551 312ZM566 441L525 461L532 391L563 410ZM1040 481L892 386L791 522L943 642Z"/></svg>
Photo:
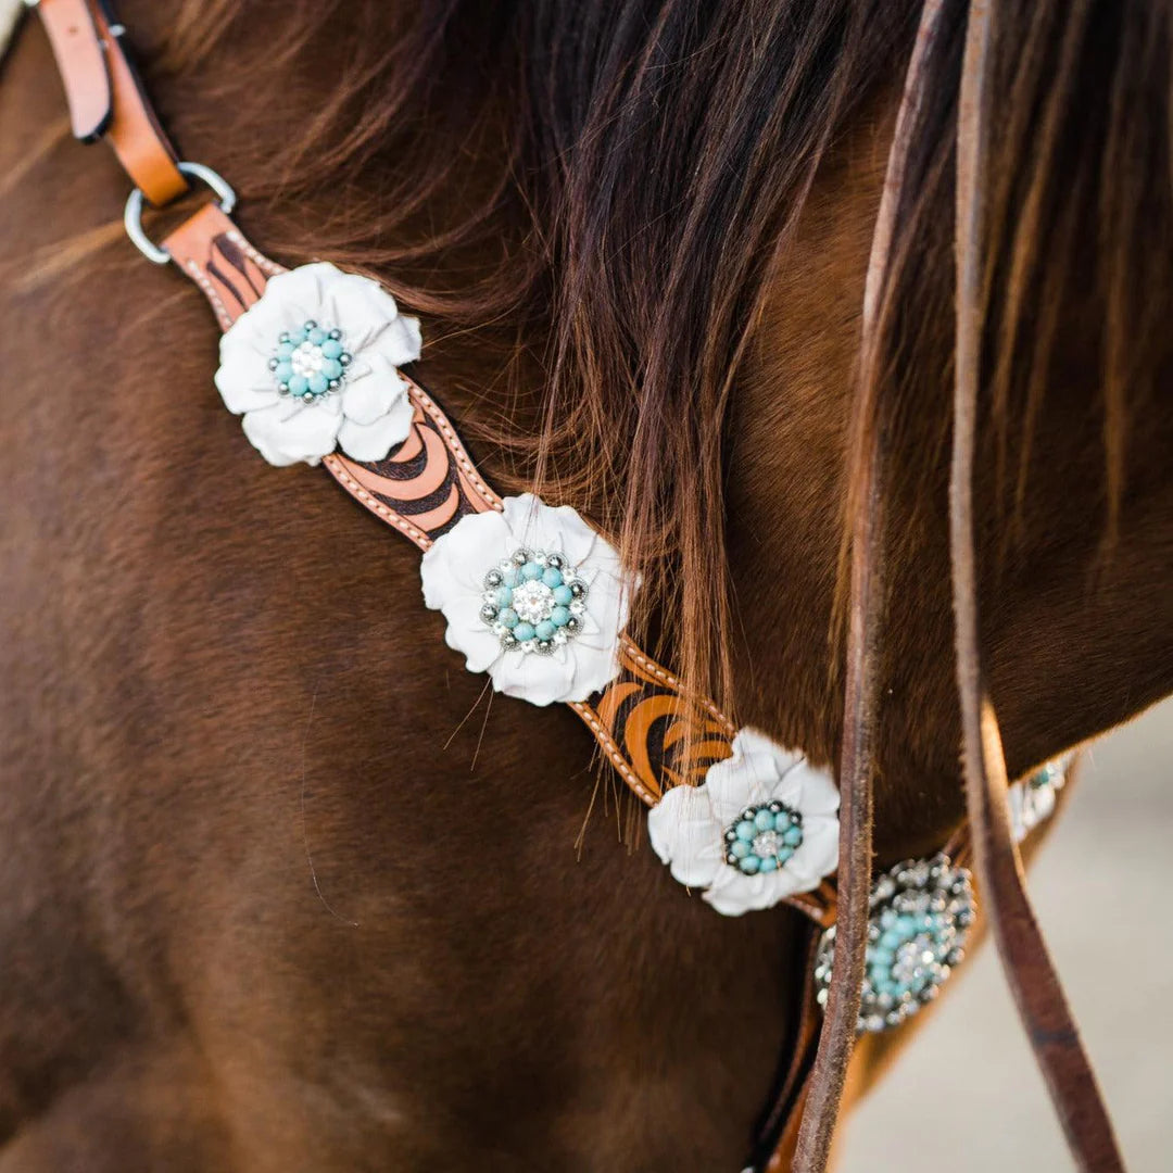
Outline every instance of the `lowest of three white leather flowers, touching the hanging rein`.
<svg viewBox="0 0 1173 1173"><path fill-rule="evenodd" d="M701 786L673 786L647 815L672 875L725 916L811 891L839 860L839 791L830 774L744 728L733 757Z"/></svg>

